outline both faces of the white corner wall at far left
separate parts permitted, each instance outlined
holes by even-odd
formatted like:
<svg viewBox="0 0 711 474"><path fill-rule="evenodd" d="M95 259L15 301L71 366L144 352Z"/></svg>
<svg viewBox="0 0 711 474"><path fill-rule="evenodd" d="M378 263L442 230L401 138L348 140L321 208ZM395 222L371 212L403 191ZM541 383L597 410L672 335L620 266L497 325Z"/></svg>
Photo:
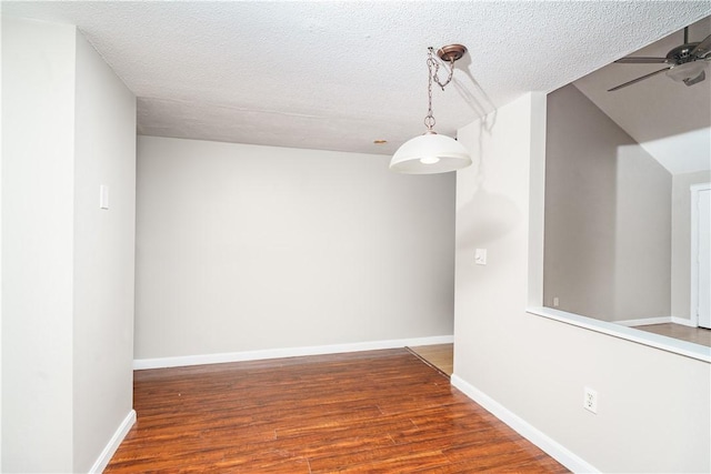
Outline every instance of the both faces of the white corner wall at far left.
<svg viewBox="0 0 711 474"><path fill-rule="evenodd" d="M4 17L2 97L2 471L86 472L132 415L134 98L74 27Z"/></svg>

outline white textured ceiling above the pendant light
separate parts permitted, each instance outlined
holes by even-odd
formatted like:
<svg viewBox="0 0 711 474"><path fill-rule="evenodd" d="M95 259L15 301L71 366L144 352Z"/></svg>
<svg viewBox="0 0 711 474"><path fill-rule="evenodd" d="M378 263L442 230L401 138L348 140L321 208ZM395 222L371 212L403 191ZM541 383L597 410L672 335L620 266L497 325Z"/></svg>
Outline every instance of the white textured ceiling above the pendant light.
<svg viewBox="0 0 711 474"><path fill-rule="evenodd" d="M385 154L423 131L430 46L469 48L454 83L434 90L435 130L454 134L711 14L710 1L1 7L77 24L139 98L139 133Z"/></svg>

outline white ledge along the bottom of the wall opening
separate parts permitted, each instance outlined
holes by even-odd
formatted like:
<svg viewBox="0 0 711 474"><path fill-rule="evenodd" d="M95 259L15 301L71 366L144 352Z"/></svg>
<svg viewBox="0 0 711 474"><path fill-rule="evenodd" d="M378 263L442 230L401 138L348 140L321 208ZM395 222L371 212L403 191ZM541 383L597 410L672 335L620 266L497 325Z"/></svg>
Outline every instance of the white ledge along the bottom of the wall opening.
<svg viewBox="0 0 711 474"><path fill-rule="evenodd" d="M525 311L528 313L560 321L565 324L572 324L590 331L608 334L613 337L624 339L638 344L649 345L650 347L711 363L711 347L707 347L701 344L680 341L635 330L634 327L621 326L608 321L599 321L592 317L581 316L580 314L567 313L565 311L553 310L552 307L529 307Z"/></svg>

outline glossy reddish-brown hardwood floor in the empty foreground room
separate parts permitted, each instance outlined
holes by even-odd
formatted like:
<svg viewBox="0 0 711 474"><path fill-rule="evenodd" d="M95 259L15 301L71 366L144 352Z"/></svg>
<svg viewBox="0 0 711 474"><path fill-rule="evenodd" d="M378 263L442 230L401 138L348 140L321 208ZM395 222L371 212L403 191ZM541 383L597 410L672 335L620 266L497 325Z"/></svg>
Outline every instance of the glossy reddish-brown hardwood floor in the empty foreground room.
<svg viewBox="0 0 711 474"><path fill-rule="evenodd" d="M568 472L409 351L138 371L106 473Z"/></svg>

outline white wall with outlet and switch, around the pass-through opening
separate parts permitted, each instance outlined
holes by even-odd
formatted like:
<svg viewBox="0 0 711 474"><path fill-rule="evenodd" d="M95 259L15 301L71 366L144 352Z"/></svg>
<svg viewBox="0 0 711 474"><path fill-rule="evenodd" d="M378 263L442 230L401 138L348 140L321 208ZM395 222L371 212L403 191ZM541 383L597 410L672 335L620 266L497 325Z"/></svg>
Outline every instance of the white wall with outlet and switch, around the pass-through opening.
<svg viewBox="0 0 711 474"><path fill-rule="evenodd" d="M541 123L534 93L460 130L475 164L457 173L452 380L559 443L571 467L709 472L708 363L525 312L542 272L529 269L542 251ZM487 266L474 265L475 248L488 249ZM597 415L583 386L598 391Z"/></svg>

